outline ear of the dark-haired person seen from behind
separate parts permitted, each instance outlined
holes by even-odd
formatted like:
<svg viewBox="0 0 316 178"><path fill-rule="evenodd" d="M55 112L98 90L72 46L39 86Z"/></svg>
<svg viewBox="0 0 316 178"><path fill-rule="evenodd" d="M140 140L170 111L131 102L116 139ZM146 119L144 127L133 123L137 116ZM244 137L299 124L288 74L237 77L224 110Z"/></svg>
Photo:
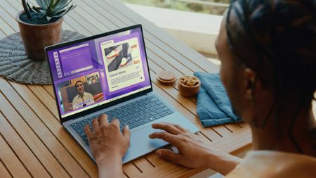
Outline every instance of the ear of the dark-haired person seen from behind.
<svg viewBox="0 0 316 178"><path fill-rule="evenodd" d="M256 98L255 89L256 89L256 82L257 82L257 75L254 70L251 68L244 69L244 91L245 96L247 99L254 101Z"/></svg>

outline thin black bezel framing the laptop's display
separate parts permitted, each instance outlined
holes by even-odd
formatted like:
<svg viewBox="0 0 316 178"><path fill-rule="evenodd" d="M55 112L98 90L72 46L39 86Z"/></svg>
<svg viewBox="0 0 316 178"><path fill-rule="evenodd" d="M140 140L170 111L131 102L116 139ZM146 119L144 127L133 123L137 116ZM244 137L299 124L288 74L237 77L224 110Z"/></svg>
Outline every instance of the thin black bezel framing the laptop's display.
<svg viewBox="0 0 316 178"><path fill-rule="evenodd" d="M117 100L110 101L109 103L104 103L104 104L102 104L100 106L96 106L96 107L90 108L88 110L83 110L83 111L81 111L79 113L75 113L73 115L69 115L67 117L62 118L61 113L60 113L60 108L59 108L59 105L58 105L58 99L57 99L58 96L56 94L55 84L53 82L53 73L51 71L51 63L50 63L50 61L48 61L48 51L52 51L52 50L55 50L55 49L60 49L62 47L70 46L70 45L73 45L73 44L78 44L78 43L81 43L81 42L94 40L94 39L97 39L97 38L100 38L100 37L106 37L106 36L109 36L109 35L112 35L112 34L117 34L117 33L120 33L120 32L125 32L127 30L134 30L136 28L140 28L140 30L141 30L141 35L142 35L143 45L144 45L144 51L145 51L145 60L146 60L146 63L147 63L148 76L149 76L149 79L150 79L150 88L145 89L143 91L138 91L136 94L131 94L129 96L124 96L123 98L119 98ZM150 68L149 68L148 60L147 60L147 52L146 52L145 39L144 39L144 34L143 34L143 27L140 24L133 25L133 26L130 26L130 27L124 27L124 28L121 28L119 30L105 32L103 34L96 34L96 35L93 35L91 37L84 37L84 38L81 38L81 39L76 39L76 40L71 41L71 42L65 42L65 43L61 43L61 44L55 44L53 46L47 46L45 48L45 53L46 53L46 60L48 61L49 72L51 74L51 80L52 80L53 90L54 90L54 95L55 95L55 103L56 103L56 106L58 108L58 115L59 115L59 119L60 119L60 123L61 124L63 122L68 121L68 120L73 120L73 119L76 119L78 117L82 117L84 115L88 115L90 113L96 112L98 110L102 110L104 108L108 108L110 106L114 106L114 105L116 105L118 103L121 103L123 101L129 100L131 98L136 98L138 96L147 94L148 92L152 91L152 80L151 80L151 77L150 77Z"/></svg>

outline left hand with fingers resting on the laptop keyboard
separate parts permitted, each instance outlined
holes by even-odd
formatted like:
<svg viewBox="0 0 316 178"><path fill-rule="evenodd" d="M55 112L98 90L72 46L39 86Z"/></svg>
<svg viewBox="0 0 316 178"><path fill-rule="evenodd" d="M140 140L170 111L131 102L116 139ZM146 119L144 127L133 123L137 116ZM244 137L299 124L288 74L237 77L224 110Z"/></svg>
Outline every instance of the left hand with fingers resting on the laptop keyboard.
<svg viewBox="0 0 316 178"><path fill-rule="evenodd" d="M124 127L123 134L121 134L119 120L109 123L106 115L93 120L92 127L93 132L89 125L86 125L84 131L88 137L91 153L99 168L99 177L123 176L121 158L130 145L129 127Z"/></svg>

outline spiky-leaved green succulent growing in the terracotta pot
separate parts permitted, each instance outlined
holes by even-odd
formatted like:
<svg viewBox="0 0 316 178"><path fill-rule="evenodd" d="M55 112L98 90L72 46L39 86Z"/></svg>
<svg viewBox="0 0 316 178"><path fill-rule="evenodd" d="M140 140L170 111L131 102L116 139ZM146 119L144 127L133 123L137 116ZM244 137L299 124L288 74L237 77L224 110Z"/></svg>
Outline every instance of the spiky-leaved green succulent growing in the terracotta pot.
<svg viewBox="0 0 316 178"><path fill-rule="evenodd" d="M22 5L27 14L28 18L32 18L32 15L29 11L34 13L39 13L44 15L47 20L51 20L51 18L61 18L62 15L65 15L70 10L74 9L76 6L70 3L72 0L36 0L39 7L29 6L29 3L25 0L22 0ZM70 6L69 6L70 5Z"/></svg>

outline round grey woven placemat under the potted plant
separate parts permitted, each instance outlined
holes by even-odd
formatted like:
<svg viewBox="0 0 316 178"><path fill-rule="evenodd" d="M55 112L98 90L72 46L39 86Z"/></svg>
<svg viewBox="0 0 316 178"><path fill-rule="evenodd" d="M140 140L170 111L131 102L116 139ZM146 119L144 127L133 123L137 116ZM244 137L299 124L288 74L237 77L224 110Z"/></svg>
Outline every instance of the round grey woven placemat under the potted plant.
<svg viewBox="0 0 316 178"><path fill-rule="evenodd" d="M78 32L62 30L62 42L85 37ZM0 75L22 84L51 84L48 61L28 59L20 33L0 40Z"/></svg>

